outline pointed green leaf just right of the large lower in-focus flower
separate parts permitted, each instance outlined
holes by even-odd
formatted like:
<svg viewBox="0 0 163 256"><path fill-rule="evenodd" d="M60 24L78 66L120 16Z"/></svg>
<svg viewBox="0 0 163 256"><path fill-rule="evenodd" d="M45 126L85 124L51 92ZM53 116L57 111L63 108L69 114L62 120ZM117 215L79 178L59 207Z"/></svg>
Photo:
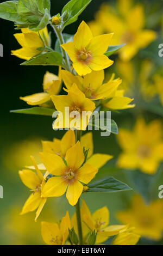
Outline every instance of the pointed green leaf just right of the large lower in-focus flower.
<svg viewBox="0 0 163 256"><path fill-rule="evenodd" d="M104 178L87 185L89 190L86 192L120 192L132 190L127 184L116 180L114 177Z"/></svg>

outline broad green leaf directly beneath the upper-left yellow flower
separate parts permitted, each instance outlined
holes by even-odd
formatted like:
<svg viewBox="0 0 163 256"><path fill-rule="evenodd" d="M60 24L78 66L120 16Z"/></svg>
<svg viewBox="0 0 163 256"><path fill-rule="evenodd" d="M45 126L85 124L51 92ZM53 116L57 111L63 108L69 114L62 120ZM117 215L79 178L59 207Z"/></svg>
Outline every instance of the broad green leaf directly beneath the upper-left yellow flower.
<svg viewBox="0 0 163 256"><path fill-rule="evenodd" d="M62 56L58 52L41 53L21 65L64 66Z"/></svg>

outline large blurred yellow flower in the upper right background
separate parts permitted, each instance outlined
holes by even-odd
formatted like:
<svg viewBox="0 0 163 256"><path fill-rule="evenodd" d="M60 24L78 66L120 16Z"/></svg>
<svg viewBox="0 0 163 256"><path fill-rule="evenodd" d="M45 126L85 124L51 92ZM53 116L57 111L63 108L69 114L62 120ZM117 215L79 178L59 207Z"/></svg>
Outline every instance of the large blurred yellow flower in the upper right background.
<svg viewBox="0 0 163 256"><path fill-rule="evenodd" d="M131 2L130 0L118 0L116 9L108 4L103 4L96 14L95 22L90 23L95 35L98 35L99 25L102 26L105 33L114 32L112 45L126 44L119 51L120 58L124 61L133 58L140 48L145 48L156 38L154 31L144 29L143 5L136 4L133 7ZM98 23L98 26L95 23Z"/></svg>

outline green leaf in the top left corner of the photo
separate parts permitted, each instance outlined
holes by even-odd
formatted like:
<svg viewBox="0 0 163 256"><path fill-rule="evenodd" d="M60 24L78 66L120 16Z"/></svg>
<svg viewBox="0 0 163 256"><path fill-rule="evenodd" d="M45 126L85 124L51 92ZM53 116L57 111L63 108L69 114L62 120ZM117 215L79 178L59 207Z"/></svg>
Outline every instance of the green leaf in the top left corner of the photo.
<svg viewBox="0 0 163 256"><path fill-rule="evenodd" d="M7 1L0 4L0 17L4 20L22 22L23 19L17 14L18 1Z"/></svg>

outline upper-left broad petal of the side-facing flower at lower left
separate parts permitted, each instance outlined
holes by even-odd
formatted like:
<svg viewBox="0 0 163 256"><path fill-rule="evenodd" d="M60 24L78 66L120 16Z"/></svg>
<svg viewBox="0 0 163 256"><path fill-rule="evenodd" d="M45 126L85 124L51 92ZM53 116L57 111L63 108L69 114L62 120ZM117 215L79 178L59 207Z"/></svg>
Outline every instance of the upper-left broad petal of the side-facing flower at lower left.
<svg viewBox="0 0 163 256"><path fill-rule="evenodd" d="M20 170L18 174L23 184L31 190L40 186L40 179L32 170Z"/></svg>

